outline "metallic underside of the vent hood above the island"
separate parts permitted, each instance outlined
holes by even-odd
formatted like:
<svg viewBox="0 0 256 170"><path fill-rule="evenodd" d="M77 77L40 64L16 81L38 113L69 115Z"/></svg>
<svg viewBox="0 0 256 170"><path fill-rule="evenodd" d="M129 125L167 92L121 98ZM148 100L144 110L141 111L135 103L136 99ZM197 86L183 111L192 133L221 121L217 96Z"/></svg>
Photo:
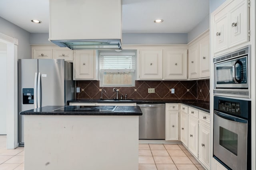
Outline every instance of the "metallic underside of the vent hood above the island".
<svg viewBox="0 0 256 170"><path fill-rule="evenodd" d="M52 40L59 47L74 49L122 49L120 39Z"/></svg>

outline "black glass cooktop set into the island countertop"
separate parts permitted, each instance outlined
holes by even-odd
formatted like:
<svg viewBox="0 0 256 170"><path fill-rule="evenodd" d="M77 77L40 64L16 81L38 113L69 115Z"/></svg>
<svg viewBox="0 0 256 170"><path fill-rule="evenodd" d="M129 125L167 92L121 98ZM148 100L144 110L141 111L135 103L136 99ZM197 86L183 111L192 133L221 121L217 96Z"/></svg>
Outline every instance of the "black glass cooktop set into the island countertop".
<svg viewBox="0 0 256 170"><path fill-rule="evenodd" d="M117 106L64 106L53 111L114 111Z"/></svg>

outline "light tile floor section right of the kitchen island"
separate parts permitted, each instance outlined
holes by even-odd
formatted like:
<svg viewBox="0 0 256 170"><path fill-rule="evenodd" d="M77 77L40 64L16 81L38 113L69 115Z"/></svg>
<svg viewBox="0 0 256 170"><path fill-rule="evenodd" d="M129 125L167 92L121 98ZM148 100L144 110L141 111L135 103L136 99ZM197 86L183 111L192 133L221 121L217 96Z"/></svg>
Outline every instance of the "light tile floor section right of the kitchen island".
<svg viewBox="0 0 256 170"><path fill-rule="evenodd" d="M139 144L139 170L204 170L182 144Z"/></svg>

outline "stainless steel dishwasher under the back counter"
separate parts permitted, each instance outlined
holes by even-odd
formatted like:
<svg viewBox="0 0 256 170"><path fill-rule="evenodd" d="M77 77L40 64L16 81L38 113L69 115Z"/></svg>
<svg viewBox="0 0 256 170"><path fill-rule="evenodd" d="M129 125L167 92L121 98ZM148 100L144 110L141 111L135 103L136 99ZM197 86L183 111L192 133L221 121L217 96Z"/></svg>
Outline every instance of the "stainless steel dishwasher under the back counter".
<svg viewBox="0 0 256 170"><path fill-rule="evenodd" d="M165 139L165 104L137 104L139 116L139 139Z"/></svg>

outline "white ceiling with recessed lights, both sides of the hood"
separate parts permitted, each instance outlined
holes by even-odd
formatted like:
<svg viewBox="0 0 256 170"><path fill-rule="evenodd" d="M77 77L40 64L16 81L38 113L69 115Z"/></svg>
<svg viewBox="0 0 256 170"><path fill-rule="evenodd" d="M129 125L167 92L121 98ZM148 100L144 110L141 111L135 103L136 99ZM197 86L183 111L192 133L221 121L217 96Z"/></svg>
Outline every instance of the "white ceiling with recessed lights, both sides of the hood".
<svg viewBox="0 0 256 170"><path fill-rule="evenodd" d="M209 0L122 0L122 31L188 33L208 14ZM0 0L0 17L30 33L48 33L49 0Z"/></svg>

